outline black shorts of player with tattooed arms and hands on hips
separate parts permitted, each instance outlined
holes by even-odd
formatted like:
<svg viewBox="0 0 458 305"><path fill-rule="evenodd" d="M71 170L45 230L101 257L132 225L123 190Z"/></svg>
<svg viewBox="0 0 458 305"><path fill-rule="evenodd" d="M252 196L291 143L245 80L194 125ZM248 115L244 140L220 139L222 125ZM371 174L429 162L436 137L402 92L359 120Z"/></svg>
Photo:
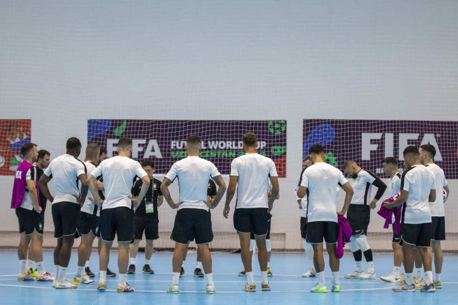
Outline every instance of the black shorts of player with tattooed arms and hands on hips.
<svg viewBox="0 0 458 305"><path fill-rule="evenodd" d="M179 244L187 245L196 239L197 245L213 241L212 217L204 209L180 209L175 216L170 239Z"/></svg>

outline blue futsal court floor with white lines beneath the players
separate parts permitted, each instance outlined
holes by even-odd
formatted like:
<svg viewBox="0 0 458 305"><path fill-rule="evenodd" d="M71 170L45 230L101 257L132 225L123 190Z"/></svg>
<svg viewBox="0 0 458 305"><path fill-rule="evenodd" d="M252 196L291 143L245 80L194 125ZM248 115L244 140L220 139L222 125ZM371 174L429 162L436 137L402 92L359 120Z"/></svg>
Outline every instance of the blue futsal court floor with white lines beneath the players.
<svg viewBox="0 0 458 305"><path fill-rule="evenodd" d="M457 304L458 299L458 256L445 256L442 271L443 289L435 293L395 293L391 291L393 284L381 280L346 279L344 274L354 270L353 257L346 254L341 260L340 285L342 292L312 294L309 289L316 284L316 278L302 278L301 273L308 270L305 254L273 253L271 268L274 274L269 278L272 291L262 292L257 259L253 260L253 270L258 291L242 292L245 278L237 276L241 270L240 254L213 253L213 280L217 294L205 294L205 279L194 278L193 271L196 253L190 252L185 264L186 276L180 278L180 294L166 294L171 280L171 252L157 252L151 259L151 268L155 274L138 273L142 270L144 253L136 258L137 274L128 274L128 283L136 289L133 293L117 293L118 279L107 278L107 291L98 292L96 275L95 283L78 286L78 289L56 290L52 282L19 282L17 281L18 262L16 251L0 252L0 293L3 304ZM67 278L73 279L76 268L76 252L72 253ZM255 257L254 257L255 258ZM325 258L327 260L327 258ZM117 273L117 253L111 253L109 268ZM375 255L377 278L387 275L392 270L391 255ZM256 264L255 264L256 263ZM44 265L47 271L53 272L52 252L44 253ZM365 262L363 262L365 266ZM91 257L91 270L98 271L97 252ZM331 288L331 272L326 269L327 288ZM455 275L454 275L455 274Z"/></svg>

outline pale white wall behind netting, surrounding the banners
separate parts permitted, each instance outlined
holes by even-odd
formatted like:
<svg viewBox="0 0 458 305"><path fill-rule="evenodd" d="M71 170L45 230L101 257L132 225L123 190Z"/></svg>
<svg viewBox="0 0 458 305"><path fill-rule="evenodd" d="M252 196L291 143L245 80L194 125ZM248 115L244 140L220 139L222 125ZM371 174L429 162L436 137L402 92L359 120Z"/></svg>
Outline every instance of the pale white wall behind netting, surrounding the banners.
<svg viewBox="0 0 458 305"><path fill-rule="evenodd" d="M456 1L46 2L2 4L0 118L32 118L53 156L88 118L286 119L273 231L290 248L303 118L458 119ZM0 177L0 230L17 229L11 186ZM221 214L215 230L231 230Z"/></svg>

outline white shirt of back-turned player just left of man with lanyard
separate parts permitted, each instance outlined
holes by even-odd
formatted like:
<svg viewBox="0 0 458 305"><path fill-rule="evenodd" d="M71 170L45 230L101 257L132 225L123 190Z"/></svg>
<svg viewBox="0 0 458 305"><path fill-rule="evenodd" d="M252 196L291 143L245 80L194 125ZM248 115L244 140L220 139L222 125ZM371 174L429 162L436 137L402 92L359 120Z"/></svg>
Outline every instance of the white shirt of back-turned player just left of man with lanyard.
<svg viewBox="0 0 458 305"><path fill-rule="evenodd" d="M95 178L104 178L105 200L102 209L126 207L131 209L132 193L136 177L147 176L140 163L120 155L105 159L91 173Z"/></svg>

